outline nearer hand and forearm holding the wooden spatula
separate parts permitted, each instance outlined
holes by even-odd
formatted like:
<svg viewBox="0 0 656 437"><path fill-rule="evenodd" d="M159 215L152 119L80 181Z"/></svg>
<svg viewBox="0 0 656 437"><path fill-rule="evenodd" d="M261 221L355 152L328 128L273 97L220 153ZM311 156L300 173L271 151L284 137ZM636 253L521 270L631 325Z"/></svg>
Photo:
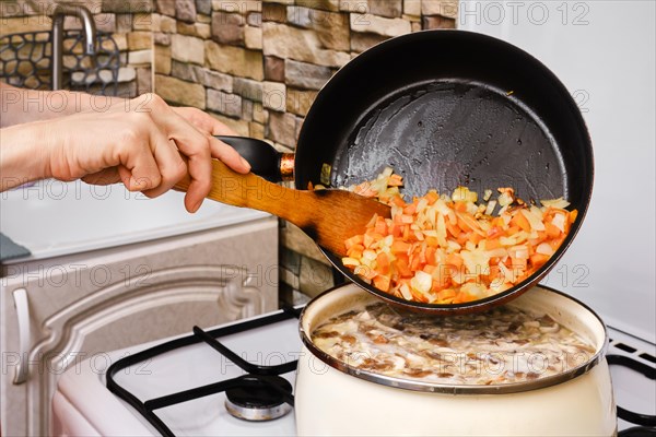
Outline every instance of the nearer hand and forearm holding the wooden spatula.
<svg viewBox="0 0 656 437"><path fill-rule="evenodd" d="M198 109L172 108L155 94L114 104L102 113L84 111L3 129L2 161L9 161L2 163L3 173L11 164L35 157L32 153L37 149L26 146L21 160L21 147L15 144L22 142L21 129L26 133L23 137L38 139L43 147L38 152L44 166L33 166L31 174L60 180L82 178L96 185L122 181L130 191L156 197L188 173L191 185L185 206L189 212L197 211L210 191L211 157L239 173L250 169L237 152L212 137L232 133L229 128ZM2 187L8 188L5 184Z"/></svg>

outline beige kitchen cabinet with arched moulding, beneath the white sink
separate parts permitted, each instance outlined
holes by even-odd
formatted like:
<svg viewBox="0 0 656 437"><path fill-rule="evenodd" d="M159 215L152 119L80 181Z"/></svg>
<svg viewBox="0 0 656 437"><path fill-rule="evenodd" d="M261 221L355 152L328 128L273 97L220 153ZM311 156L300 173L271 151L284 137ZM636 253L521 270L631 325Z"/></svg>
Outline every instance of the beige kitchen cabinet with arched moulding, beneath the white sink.
<svg viewBox="0 0 656 437"><path fill-rule="evenodd" d="M2 436L47 435L59 376L87 358L99 375L108 351L276 309L277 224L4 265Z"/></svg>

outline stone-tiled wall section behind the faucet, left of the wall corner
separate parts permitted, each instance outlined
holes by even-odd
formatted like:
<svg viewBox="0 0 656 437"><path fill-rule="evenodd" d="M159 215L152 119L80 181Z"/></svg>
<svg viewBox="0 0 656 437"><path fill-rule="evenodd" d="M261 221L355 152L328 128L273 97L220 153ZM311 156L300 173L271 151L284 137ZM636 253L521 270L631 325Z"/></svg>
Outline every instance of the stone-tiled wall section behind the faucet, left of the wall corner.
<svg viewBox="0 0 656 437"><path fill-rule="evenodd" d="M118 95L133 97L152 91L151 0L59 2L83 4L92 12L96 29L112 34L119 49L121 66L118 71ZM55 3L55 0L0 0L0 37L24 32L50 32ZM81 29L82 23L74 16L67 16L63 28ZM45 42L42 43L43 49L48 51ZM70 59L65 57L65 66L69 62ZM25 83L25 86L34 87L30 85Z"/></svg>

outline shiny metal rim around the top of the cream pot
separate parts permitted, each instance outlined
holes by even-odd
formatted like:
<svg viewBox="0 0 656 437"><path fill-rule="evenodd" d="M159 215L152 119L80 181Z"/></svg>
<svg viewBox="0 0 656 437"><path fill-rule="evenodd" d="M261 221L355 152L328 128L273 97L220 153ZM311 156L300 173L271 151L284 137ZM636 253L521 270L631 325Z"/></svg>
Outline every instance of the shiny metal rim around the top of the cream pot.
<svg viewBox="0 0 656 437"><path fill-rule="evenodd" d="M301 340L302 340L303 344L305 345L305 347L307 347L308 351L314 356L319 358L321 362L324 362L328 366L330 366L337 370L340 370L344 374L354 376L356 378L360 378L360 379L363 379L363 380L366 380L370 382L376 382L376 383L379 383L383 386L399 388L399 389L403 389L403 390L411 390L411 391L422 391L422 392L432 392L432 393L449 393L449 394L503 394L503 393L517 393L517 392L523 392L523 391L531 391L531 390L538 390L538 389L555 386L559 383L563 383L563 382L566 382L574 378L577 378L582 375L587 374L597 364L599 364L602 359L605 359L606 353L608 350L608 344L609 344L608 328L606 327L606 323L599 317L599 315L597 315L590 307L588 307L581 300L578 300L563 292L560 292L555 288L539 284L539 285L536 285L535 287L542 288L547 292L554 293L557 295L560 295L561 297L572 300L574 304L577 304L583 309L587 310L600 323L601 329L604 331L604 341L601 343L601 346L598 349L598 351L586 363L581 364L576 367L573 367L561 374L552 375L552 376L544 377L544 378L538 378L538 379L531 380L531 381L513 382L513 383L504 383L504 385L491 385L491 386L436 383L436 382L430 382L430 381L390 377L390 376L380 375L380 374L376 374L376 373L368 371L368 370L362 370L362 369L352 367L351 365L349 365L344 362L341 362L341 361L332 357L331 355L327 354L326 352L321 351L320 349L318 349L312 342L309 332L306 332L305 329L303 328L303 321L307 315L308 308L311 308L313 305L317 305L317 302L319 302L320 298L326 296L327 294L332 293L332 292L343 288L343 287L349 287L349 286L354 286L354 284L342 284L342 285L335 286L330 290L327 290L324 293L316 296L315 298L313 298L303 308L303 310L301 311L301 315L298 316L298 333L301 335ZM358 288L358 290L360 290L360 288ZM360 290L360 291L362 292L362 290ZM444 317L449 317L449 316L444 316Z"/></svg>

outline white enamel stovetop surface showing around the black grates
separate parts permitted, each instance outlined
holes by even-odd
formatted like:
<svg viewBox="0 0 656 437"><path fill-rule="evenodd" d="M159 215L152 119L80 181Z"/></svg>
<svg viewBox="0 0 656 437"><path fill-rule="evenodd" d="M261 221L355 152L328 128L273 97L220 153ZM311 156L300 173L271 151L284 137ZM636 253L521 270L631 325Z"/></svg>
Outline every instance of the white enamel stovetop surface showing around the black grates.
<svg viewBox="0 0 656 437"><path fill-rule="evenodd" d="M301 350L298 322L285 320L256 330L220 339L248 361L268 365L296 359ZM609 354L631 355L640 361L641 353L656 355L656 345L643 342L619 331L609 330L613 340ZM618 342L632 345L637 351L626 353L613 346ZM96 359L96 363L115 362L150 345L116 351ZM165 359L163 358L165 356ZM140 399L152 399L190 387L232 378L242 371L226 358L204 344L167 353L142 366L122 370L116 377L119 385ZM643 363L647 363L642 359ZM180 365L184 363L184 365ZM654 365L652 365L654 366ZM611 366L616 401L629 410L656 414L656 381L639 376L632 370ZM285 376L293 382L295 374ZM160 410L160 417L172 425L177 436L292 436L295 434L293 413L263 423L247 423L230 416L224 406L224 395L216 394ZM71 367L61 378L54 399L56 423L65 423L68 435L152 436L155 429L130 405L120 401L105 388L104 368L94 368L94 361ZM173 425L174 424L174 425ZM619 421L619 429L635 426Z"/></svg>

